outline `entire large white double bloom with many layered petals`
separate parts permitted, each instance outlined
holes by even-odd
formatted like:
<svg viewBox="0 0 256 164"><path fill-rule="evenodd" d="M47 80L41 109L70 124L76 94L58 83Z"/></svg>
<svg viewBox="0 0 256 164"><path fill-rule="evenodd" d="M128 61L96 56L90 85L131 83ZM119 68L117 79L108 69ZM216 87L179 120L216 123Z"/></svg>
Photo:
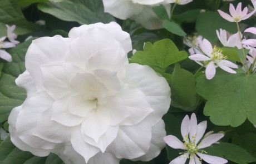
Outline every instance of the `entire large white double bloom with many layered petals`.
<svg viewBox="0 0 256 164"><path fill-rule="evenodd" d="M111 22L34 40L16 83L27 98L9 115L11 141L68 163L149 161L166 135L170 87L149 66L129 64L131 39Z"/></svg>

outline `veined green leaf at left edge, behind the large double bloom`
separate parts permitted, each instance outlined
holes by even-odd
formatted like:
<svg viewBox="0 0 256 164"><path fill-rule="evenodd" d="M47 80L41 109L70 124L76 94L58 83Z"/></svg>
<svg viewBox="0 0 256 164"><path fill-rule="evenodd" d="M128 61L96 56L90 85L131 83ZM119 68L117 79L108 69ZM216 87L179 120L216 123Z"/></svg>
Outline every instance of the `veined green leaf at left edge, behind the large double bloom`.
<svg viewBox="0 0 256 164"><path fill-rule="evenodd" d="M11 110L22 104L26 98L26 91L16 85L15 79L25 71L24 57L31 41L8 49L13 62L4 63L0 78L0 123L7 121Z"/></svg>

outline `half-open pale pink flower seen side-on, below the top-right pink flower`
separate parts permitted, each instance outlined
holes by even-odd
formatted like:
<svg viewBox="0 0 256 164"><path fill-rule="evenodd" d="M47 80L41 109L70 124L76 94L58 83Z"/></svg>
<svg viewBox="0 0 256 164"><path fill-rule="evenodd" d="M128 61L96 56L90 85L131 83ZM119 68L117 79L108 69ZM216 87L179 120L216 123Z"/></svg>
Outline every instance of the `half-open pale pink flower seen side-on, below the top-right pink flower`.
<svg viewBox="0 0 256 164"><path fill-rule="evenodd" d="M223 46L242 48L238 32L230 35L225 29L220 28L220 31L216 30L216 33Z"/></svg>

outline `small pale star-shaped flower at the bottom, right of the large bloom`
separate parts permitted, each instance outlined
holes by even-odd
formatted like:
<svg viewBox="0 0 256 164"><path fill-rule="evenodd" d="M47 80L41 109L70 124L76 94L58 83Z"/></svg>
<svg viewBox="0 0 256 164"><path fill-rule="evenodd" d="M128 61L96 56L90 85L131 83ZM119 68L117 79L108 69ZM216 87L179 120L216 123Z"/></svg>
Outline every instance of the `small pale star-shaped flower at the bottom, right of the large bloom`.
<svg viewBox="0 0 256 164"><path fill-rule="evenodd" d="M184 164L189 158L189 164L200 164L200 159L203 159L205 162L210 164L223 164L228 161L221 157L205 155L203 152L200 152L201 148L209 147L213 145L216 141L219 141L222 138L223 134L208 134L209 136L201 138L204 135L204 132L207 127L207 121L200 122L198 124L196 120L195 113L189 116L186 115L181 122L181 135L183 137L183 142L181 142L177 137L169 135L164 137L164 141L172 148L185 150L183 155L175 158L169 164ZM201 142L199 142L201 140ZM199 158L199 157L200 158Z"/></svg>

